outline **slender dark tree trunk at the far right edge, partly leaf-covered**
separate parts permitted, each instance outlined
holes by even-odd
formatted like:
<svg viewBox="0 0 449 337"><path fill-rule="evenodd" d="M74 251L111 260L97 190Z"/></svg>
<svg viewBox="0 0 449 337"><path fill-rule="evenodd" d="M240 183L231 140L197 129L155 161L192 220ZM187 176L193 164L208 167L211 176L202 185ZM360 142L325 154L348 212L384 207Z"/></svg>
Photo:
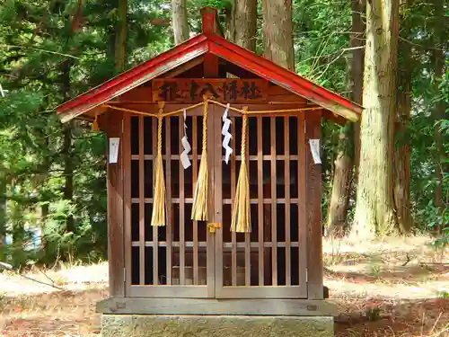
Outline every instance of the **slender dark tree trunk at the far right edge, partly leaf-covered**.
<svg viewBox="0 0 449 337"><path fill-rule="evenodd" d="M434 61L434 77L435 77L435 93L439 93L439 84L441 79L445 76L445 53L443 51L445 45L445 11L443 8L443 0L435 0L435 38L436 49L433 50ZM445 118L446 102L441 99L436 103L434 111L432 111L433 120L443 120ZM444 148L443 137L439 123L436 124L435 131L435 144L436 144L436 187L435 187L435 206L436 208L445 207L445 201L443 199L443 173L444 173Z"/></svg>

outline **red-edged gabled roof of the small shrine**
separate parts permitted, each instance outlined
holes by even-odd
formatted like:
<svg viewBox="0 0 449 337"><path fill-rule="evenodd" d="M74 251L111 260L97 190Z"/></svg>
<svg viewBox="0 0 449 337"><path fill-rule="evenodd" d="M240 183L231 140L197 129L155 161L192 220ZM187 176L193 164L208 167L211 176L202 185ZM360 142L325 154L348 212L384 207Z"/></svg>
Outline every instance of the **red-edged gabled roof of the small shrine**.
<svg viewBox="0 0 449 337"><path fill-rule="evenodd" d="M207 28L205 29L203 21L202 34L61 104L57 107L57 113L61 120L63 122L72 120L120 94L136 88L136 86L151 81L206 53L224 58L227 62L259 75L347 120L357 121L359 119L363 108L357 103L351 102L337 93L332 93L318 84L313 84L303 76L225 40L212 30L205 30Z"/></svg>

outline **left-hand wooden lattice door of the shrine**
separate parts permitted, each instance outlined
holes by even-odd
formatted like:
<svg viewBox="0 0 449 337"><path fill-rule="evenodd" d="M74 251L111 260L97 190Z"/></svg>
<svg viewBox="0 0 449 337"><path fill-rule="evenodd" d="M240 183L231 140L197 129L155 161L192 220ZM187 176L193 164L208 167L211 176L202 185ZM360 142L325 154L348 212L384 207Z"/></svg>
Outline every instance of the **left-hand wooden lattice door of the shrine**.
<svg viewBox="0 0 449 337"><path fill-rule="evenodd" d="M131 173L124 177L127 297L214 297L214 238L206 224L190 219L201 158L201 109L189 111L186 123L192 150L191 166L184 170L183 118L163 119L167 226L151 226L157 119L125 119L124 164Z"/></svg>

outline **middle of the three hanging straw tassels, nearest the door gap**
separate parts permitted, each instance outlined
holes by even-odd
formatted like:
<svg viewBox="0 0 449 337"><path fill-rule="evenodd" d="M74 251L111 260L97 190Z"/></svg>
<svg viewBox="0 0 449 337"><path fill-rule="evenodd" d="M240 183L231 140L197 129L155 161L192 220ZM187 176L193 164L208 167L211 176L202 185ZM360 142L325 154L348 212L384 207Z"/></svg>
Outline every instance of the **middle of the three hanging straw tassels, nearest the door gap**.
<svg viewBox="0 0 449 337"><path fill-rule="evenodd" d="M199 163L199 173L195 194L193 196L192 220L207 221L207 97L203 97L203 151Z"/></svg>

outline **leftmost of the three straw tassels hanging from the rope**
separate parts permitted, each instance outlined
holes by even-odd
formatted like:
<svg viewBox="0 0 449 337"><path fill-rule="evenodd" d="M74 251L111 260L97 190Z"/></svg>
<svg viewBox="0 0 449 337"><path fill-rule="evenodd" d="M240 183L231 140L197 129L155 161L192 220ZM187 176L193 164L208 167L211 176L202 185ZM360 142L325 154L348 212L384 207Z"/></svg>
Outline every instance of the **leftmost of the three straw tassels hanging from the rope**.
<svg viewBox="0 0 449 337"><path fill-rule="evenodd" d="M157 156L155 167L154 203L151 226L165 226L165 182L163 179L163 114L157 117Z"/></svg>

